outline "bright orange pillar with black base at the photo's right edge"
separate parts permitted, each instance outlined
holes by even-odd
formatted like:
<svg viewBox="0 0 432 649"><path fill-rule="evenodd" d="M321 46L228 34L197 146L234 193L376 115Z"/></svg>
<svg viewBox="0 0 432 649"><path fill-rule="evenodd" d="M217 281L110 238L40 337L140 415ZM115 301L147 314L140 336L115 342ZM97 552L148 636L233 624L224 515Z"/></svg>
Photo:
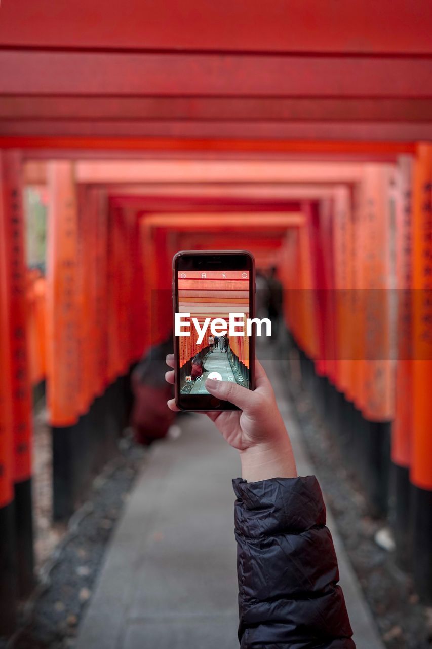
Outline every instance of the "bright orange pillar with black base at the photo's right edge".
<svg viewBox="0 0 432 649"><path fill-rule="evenodd" d="M418 594L432 602L432 145L418 148L413 221L413 567Z"/></svg>

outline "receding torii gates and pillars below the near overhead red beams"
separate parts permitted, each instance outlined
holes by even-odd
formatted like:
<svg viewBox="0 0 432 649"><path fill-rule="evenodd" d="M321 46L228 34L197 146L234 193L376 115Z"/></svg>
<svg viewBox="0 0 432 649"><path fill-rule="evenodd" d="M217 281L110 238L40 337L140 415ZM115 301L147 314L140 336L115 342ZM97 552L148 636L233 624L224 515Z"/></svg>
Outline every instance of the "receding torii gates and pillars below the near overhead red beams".
<svg viewBox="0 0 432 649"><path fill-rule="evenodd" d="M114 452L130 367L171 331L174 252L222 248L248 249L258 267L278 267L287 343L300 350L306 378L315 377L317 401L339 398L342 414L351 411L342 443L379 515L389 513L391 457L396 541L402 558L413 544L416 585L427 596L431 307L421 291L411 304L401 290L395 315L389 289L428 287L431 230L420 216L431 204L432 147L385 162L326 164L72 158L1 154L0 306L9 335L0 347L0 520L3 539L16 535L16 545L2 547L18 552L19 594L33 582L32 384L47 384L61 519ZM48 207L43 286L25 267L23 186ZM395 389L406 398L395 400ZM5 570L6 559L14 565L4 559Z"/></svg>

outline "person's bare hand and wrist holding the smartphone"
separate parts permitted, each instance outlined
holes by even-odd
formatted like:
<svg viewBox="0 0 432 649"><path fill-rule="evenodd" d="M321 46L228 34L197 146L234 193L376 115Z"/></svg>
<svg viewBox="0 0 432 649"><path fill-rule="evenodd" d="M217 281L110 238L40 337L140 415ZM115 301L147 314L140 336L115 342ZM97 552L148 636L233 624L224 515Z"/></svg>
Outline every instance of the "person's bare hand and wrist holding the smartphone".
<svg viewBox="0 0 432 649"><path fill-rule="evenodd" d="M167 365L174 367L174 354L168 354ZM210 394L230 401L241 411L210 411L206 415L228 444L239 450L245 480L293 478L297 473L291 443L272 386L258 360L255 371L254 391L234 382L208 378L206 388ZM165 378L174 384L174 371L168 371ZM174 399L168 401L168 407L179 410Z"/></svg>

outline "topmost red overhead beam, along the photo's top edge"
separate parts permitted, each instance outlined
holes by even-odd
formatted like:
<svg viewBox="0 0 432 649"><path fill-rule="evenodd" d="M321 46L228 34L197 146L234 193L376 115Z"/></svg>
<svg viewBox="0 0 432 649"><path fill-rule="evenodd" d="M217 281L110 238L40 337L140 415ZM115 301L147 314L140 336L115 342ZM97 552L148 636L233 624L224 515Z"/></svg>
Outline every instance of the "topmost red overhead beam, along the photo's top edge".
<svg viewBox="0 0 432 649"><path fill-rule="evenodd" d="M14 46L431 53L429 0L2 0Z"/></svg>

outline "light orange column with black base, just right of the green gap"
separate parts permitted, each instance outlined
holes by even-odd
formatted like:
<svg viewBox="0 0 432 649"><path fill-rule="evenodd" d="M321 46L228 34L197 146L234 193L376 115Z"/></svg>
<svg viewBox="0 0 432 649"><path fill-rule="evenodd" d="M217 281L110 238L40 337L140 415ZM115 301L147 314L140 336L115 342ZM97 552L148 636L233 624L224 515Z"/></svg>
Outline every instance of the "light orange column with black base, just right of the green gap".
<svg viewBox="0 0 432 649"><path fill-rule="evenodd" d="M53 431L53 515L73 511L77 497L80 363L77 326L77 193L73 164L48 164L47 402Z"/></svg>

